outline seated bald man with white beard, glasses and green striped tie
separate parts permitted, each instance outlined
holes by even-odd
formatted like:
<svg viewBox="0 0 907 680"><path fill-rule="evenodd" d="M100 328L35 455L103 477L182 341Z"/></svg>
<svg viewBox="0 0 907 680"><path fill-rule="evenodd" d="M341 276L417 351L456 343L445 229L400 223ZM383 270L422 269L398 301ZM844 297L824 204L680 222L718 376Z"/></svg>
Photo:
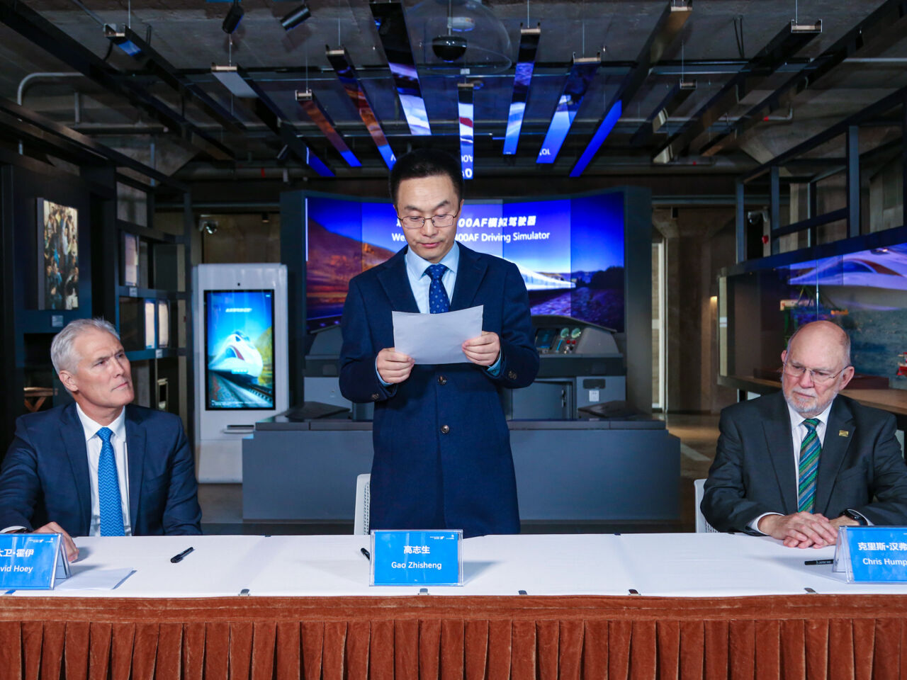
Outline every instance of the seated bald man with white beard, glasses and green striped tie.
<svg viewBox="0 0 907 680"><path fill-rule="evenodd" d="M894 416L838 394L853 377L847 334L804 325L781 360L781 393L721 412L701 505L709 523L791 548L834 545L841 526L907 525Z"/></svg>

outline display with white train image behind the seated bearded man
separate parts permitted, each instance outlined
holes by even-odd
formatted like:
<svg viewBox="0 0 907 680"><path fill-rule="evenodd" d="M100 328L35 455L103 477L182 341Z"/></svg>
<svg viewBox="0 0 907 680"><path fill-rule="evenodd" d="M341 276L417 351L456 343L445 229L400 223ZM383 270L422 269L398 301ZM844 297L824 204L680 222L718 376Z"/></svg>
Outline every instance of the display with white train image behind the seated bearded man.
<svg viewBox="0 0 907 680"><path fill-rule="evenodd" d="M841 325L859 373L904 376L907 244L860 250L784 267L789 332L816 319Z"/></svg>

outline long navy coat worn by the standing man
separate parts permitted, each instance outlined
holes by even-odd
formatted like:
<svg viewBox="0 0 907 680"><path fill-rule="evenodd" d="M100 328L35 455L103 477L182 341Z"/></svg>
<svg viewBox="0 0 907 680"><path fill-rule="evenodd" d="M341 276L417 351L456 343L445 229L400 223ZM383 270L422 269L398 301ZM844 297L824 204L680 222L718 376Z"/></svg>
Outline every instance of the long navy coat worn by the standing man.
<svg viewBox="0 0 907 680"><path fill-rule="evenodd" d="M483 305L483 330L501 338L497 377L472 363L416 364L405 382L385 387L375 356L394 346L391 311L419 311L406 248L349 284L340 391L352 402L375 403L374 529L463 529L465 537L520 530L510 431L497 387L525 387L538 373L529 296L512 263L454 248L460 264L450 308Z"/></svg>

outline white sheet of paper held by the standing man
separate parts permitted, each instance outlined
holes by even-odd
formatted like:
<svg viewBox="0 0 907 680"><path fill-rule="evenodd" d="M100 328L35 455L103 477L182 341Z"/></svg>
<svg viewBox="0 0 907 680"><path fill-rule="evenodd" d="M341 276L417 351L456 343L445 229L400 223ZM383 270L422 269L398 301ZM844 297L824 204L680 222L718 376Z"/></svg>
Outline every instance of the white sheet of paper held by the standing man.
<svg viewBox="0 0 907 680"><path fill-rule="evenodd" d="M394 348L416 364L468 362L460 345L482 335L482 312L482 305L444 314L392 312Z"/></svg>

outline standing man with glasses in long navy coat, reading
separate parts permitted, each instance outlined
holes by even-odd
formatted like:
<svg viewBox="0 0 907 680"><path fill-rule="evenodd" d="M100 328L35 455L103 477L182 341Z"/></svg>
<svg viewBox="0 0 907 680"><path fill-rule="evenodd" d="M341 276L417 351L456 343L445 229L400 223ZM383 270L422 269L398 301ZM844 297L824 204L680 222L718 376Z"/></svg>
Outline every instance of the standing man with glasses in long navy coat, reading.
<svg viewBox="0 0 907 680"><path fill-rule="evenodd" d="M463 208L459 163L442 151L396 161L390 194L406 248L349 284L340 390L375 403L370 487L374 529L518 533L510 432L498 387L539 370L519 269L454 240ZM483 306L483 331L462 364L414 364L396 352L391 312Z"/></svg>

